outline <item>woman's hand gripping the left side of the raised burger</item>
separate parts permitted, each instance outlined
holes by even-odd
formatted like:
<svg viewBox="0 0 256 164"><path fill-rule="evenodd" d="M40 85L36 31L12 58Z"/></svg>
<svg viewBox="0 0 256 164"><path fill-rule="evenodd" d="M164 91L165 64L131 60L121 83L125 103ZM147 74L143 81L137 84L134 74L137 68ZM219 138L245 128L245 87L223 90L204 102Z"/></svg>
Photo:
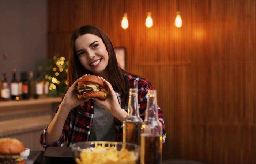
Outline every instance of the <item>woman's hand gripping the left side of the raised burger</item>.
<svg viewBox="0 0 256 164"><path fill-rule="evenodd" d="M87 74L83 75L82 77L87 76ZM80 77L79 79L81 79L82 77ZM68 110L71 110L73 108L75 108L76 106L78 106L79 104L82 104L86 101L89 101L90 98L84 98L84 99L78 99L76 94L76 86L77 83L79 81L79 79L77 79L72 85L71 87L69 87L67 93L65 94L63 101L61 102L61 105Z"/></svg>

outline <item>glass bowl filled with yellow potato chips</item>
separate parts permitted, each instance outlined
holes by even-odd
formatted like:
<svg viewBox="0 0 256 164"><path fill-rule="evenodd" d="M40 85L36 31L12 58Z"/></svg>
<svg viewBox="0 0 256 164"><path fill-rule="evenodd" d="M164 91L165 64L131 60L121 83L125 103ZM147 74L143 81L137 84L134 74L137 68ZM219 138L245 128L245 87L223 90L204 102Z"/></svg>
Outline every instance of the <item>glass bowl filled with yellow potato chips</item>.
<svg viewBox="0 0 256 164"><path fill-rule="evenodd" d="M136 164L140 146L110 141L77 142L72 145L77 164Z"/></svg>

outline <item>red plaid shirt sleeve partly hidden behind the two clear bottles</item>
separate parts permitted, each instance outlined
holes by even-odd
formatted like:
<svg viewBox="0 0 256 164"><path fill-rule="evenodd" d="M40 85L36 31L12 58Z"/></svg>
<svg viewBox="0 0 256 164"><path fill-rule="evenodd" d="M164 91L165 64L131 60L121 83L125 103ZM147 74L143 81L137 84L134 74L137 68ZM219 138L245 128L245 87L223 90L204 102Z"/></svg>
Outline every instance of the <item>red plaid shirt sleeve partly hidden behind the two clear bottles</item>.
<svg viewBox="0 0 256 164"><path fill-rule="evenodd" d="M139 88L140 87L140 88ZM138 84L138 91L139 91L139 108L140 108L140 117L144 120L145 119L145 112L147 107L147 91L152 90L153 86L148 80L144 80L141 84ZM165 122L163 121L163 111L159 106L157 106L158 110L158 118L162 125L162 143L165 142L166 132L165 132Z"/></svg>

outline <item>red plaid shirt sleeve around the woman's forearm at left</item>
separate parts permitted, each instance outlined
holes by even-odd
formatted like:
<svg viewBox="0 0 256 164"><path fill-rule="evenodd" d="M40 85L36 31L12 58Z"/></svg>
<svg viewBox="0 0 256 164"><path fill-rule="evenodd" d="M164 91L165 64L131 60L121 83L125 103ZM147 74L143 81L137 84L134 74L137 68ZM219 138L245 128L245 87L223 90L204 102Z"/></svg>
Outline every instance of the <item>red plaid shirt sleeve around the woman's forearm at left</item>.
<svg viewBox="0 0 256 164"><path fill-rule="evenodd" d="M64 98L64 95L62 96L62 100ZM61 102L62 102L61 100ZM56 112L57 113L59 106L61 104L61 102L59 103L59 105L57 106ZM54 147L60 147L62 145L65 144L66 138L68 136L68 131L69 131L69 122L70 122L70 117L71 117L71 113L68 114L68 117L64 123L60 138L58 141L56 141L55 143L53 143L52 145L46 145L46 132L48 129L48 126L46 126L46 128L43 130L43 132L40 135L40 143L42 145L42 148L45 150L45 148L49 147L49 146L54 146Z"/></svg>

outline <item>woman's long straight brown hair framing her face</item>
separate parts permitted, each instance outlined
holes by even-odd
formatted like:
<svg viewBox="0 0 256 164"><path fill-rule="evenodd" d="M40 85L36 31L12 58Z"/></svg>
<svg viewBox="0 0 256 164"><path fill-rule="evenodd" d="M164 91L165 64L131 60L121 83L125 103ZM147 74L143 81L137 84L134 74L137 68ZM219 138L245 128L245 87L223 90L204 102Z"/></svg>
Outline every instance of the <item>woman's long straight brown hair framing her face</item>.
<svg viewBox="0 0 256 164"><path fill-rule="evenodd" d="M69 54L69 65L68 65L68 87L70 87L76 79L80 78L84 74L93 74L86 70L80 63L78 56L75 51L75 40L84 34L93 34L102 39L108 51L109 60L106 70L108 71L110 83L113 89L122 95L121 107L123 108L128 102L128 81L124 78L125 71L118 66L116 53L114 51L113 44L109 37L98 27L86 25L75 30L71 38L71 53Z"/></svg>

